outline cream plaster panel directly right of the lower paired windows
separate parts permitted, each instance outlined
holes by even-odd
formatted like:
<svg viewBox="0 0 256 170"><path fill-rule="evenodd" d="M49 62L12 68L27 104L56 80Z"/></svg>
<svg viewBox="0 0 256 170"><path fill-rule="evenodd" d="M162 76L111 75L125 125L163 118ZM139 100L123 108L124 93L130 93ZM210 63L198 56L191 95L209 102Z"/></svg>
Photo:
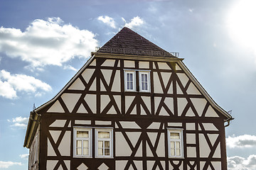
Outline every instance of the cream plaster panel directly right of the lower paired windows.
<svg viewBox="0 0 256 170"><path fill-rule="evenodd" d="M132 149L129 147L122 132L115 132L115 147L116 157L129 157L132 154Z"/></svg>

